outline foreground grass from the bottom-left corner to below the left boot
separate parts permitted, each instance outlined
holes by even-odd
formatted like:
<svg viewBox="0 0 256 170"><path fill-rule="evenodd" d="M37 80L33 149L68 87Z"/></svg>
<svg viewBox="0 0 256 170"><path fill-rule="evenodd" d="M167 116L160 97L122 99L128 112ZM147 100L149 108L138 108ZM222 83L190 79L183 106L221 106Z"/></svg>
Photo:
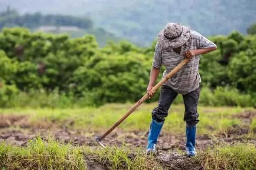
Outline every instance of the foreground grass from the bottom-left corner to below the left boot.
<svg viewBox="0 0 256 170"><path fill-rule="evenodd" d="M135 155L132 159L130 156ZM87 159L87 160L86 160ZM75 147L57 143L49 137L47 142L40 137L29 141L26 147L0 143L0 168L8 170L86 170L88 164L119 170L160 170L153 157L142 150L133 154L126 148L107 148L92 150L89 147Z"/></svg>

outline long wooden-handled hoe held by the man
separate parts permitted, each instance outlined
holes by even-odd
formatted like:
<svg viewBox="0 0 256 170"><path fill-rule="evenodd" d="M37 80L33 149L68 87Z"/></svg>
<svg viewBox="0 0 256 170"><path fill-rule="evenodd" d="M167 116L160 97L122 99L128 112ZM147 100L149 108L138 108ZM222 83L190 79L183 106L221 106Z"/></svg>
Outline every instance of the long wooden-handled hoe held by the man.
<svg viewBox="0 0 256 170"><path fill-rule="evenodd" d="M162 86L162 84L164 84L168 79L170 79L175 73L177 73L177 71L179 71L187 62L189 61L189 59L185 58L182 62L180 62L180 64L178 64L177 66L175 66L175 68L173 68L172 71L170 71L170 73L168 73L160 82L158 82L152 89L151 92L156 91L160 86ZM104 139L110 132L112 132L112 130L114 130L117 126L119 126L119 124L122 123L122 121L124 121L124 119L126 119L134 110L136 110L146 99L148 99L148 94L146 93L143 97L141 97L141 99L139 99L138 102L136 102L128 111L127 113L121 117L118 121L115 122L115 124L113 124L110 128L108 128L102 135L100 135L99 137L96 137L95 140L103 147L106 148L102 143L101 140Z"/></svg>

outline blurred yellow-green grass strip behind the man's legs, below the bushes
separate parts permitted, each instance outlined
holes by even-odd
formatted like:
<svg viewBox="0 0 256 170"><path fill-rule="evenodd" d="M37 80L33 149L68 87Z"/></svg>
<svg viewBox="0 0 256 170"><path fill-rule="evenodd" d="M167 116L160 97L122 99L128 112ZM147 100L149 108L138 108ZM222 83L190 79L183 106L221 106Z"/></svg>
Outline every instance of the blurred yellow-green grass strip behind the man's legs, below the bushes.
<svg viewBox="0 0 256 170"><path fill-rule="evenodd" d="M70 128L85 131L102 131L109 128L118 119L120 119L133 104L107 104L100 108L72 108L72 109L0 109L0 114L28 115L31 124L40 124L40 122L55 122L54 124L62 126L67 122L74 121ZM126 132L140 130L147 131L151 110L156 106L153 104L142 104L126 120L124 120L117 129ZM198 134L212 134L223 132L229 126L234 124L243 125L243 122L232 116L241 113L244 109L239 107L198 107L199 119ZM183 134L185 122L183 121L184 106L173 105L169 110L163 131L173 134ZM255 126L253 121L252 126Z"/></svg>

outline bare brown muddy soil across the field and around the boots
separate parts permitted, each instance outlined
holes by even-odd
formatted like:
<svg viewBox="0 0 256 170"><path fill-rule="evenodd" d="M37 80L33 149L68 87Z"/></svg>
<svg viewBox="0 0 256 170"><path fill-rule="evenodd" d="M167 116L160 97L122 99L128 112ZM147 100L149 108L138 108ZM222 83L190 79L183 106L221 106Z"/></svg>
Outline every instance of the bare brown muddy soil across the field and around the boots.
<svg viewBox="0 0 256 170"><path fill-rule="evenodd" d="M241 129L239 126L231 126L228 130L229 134L238 134L243 133L245 130ZM133 154L135 148L145 148L147 144L147 137L144 136L145 132L132 132L126 134L121 131L115 131L110 133L106 139L103 139L103 144L109 146L123 146L129 148L132 151L132 154L128 155L128 159L134 160L136 155ZM75 146L90 146L90 148L99 149L99 144L94 140L94 136L85 136L81 135L76 131L67 131L67 130L55 130L55 131L38 131L38 132L25 132L21 130L11 130L10 128L6 128L0 132L0 141L7 142L11 145L18 145L25 147L27 142L31 139L34 140L36 137L40 137L44 141L47 141L49 136L54 137L57 141L64 144L72 144ZM196 140L196 147L198 149L206 149L209 146L213 147L215 144L220 144L223 142L233 143L236 141L245 141L242 138L236 138L230 135L230 137L225 137L224 139L221 136L211 137L209 135L198 135ZM185 136L173 136L168 133L162 133L159 136L158 144L157 144L157 155L155 155L154 160L151 160L151 164L148 164L149 168L152 169L151 165L159 165L162 166L163 170L202 170L202 166L200 163L197 163L192 158L188 158L184 156L185 154ZM256 146L256 140L249 141ZM177 152L180 150L183 154ZM88 170L109 170L111 167L111 162L106 157L99 157L99 155L85 155L84 158L87 164ZM153 164L152 164L153 161ZM124 168L127 166L124 162L121 163Z"/></svg>

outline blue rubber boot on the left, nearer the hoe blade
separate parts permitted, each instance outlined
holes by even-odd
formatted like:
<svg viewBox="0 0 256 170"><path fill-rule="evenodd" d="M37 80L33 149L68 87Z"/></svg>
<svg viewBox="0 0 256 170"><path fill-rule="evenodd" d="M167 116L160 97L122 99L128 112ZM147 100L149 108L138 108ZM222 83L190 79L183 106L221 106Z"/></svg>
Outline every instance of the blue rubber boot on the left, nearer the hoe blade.
<svg viewBox="0 0 256 170"><path fill-rule="evenodd" d="M148 133L148 145L146 149L147 154L150 154L150 153L155 154L156 146L157 146L157 138L160 134L163 124L164 124L164 121L157 122L155 119L151 120L150 129Z"/></svg>

